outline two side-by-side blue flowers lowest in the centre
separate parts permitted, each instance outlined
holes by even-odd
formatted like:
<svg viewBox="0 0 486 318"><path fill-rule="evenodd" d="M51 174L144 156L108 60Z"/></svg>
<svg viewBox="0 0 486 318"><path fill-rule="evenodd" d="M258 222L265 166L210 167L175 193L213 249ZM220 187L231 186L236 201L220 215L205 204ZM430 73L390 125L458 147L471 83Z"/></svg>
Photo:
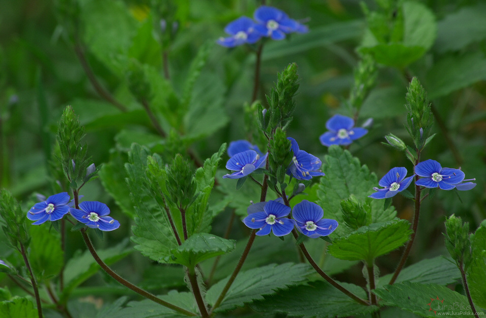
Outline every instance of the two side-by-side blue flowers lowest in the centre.
<svg viewBox="0 0 486 318"><path fill-rule="evenodd" d="M287 235L294 227L304 235L316 238L327 236L337 228L337 221L323 219L324 211L316 203L303 200L293 209L293 219L288 216L291 208L282 204L282 199L254 203L248 207L248 216L243 223L251 229L260 229L256 235Z"/></svg>

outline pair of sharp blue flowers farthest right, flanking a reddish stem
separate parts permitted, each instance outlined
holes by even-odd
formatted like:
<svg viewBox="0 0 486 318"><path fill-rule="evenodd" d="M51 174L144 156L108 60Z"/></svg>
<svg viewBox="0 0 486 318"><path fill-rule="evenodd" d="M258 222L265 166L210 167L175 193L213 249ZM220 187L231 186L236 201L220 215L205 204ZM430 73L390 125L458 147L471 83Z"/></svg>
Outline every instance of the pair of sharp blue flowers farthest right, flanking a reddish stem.
<svg viewBox="0 0 486 318"><path fill-rule="evenodd" d="M388 171L378 182L382 189L374 188L375 193L369 195L374 199L385 199L395 196L398 192L404 191L412 183L414 175L406 177L407 169L395 167ZM461 191L471 190L476 186L471 181L464 180L465 174L460 169L442 168L435 160L429 159L415 166L415 175L422 177L415 181L416 186L424 188L440 188L442 190L457 189Z"/></svg>

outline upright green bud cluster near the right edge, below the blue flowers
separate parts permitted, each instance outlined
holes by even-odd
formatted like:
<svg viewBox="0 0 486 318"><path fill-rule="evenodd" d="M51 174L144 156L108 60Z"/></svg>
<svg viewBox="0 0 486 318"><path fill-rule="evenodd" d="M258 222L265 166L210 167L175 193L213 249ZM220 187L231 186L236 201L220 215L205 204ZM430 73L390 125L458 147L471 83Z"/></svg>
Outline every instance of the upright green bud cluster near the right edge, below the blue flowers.
<svg viewBox="0 0 486 318"><path fill-rule="evenodd" d="M464 264L467 269L472 260L469 240L469 223L463 224L461 218L451 215L445 221L445 246L458 267Z"/></svg>

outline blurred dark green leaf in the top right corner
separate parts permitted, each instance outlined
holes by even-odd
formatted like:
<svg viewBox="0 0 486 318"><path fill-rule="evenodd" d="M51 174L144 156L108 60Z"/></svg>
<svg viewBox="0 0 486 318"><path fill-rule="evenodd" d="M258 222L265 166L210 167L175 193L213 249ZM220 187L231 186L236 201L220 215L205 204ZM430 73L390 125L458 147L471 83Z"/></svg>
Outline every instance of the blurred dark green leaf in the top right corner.
<svg viewBox="0 0 486 318"><path fill-rule="evenodd" d="M437 40L434 49L438 52L458 51L467 45L486 38L486 6L462 7L446 15L437 23Z"/></svg>

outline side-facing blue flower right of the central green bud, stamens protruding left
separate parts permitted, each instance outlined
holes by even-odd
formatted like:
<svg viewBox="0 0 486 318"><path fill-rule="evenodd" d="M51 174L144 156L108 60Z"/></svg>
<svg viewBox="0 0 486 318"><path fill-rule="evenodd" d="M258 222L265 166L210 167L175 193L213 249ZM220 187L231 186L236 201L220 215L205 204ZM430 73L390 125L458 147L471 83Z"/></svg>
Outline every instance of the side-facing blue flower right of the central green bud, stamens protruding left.
<svg viewBox="0 0 486 318"><path fill-rule="evenodd" d="M321 160L315 155L300 150L294 138L288 137L287 139L290 140L292 152L294 153L292 163L287 169L287 174L294 176L298 180L310 180L312 177L323 176L324 173L320 170Z"/></svg>

